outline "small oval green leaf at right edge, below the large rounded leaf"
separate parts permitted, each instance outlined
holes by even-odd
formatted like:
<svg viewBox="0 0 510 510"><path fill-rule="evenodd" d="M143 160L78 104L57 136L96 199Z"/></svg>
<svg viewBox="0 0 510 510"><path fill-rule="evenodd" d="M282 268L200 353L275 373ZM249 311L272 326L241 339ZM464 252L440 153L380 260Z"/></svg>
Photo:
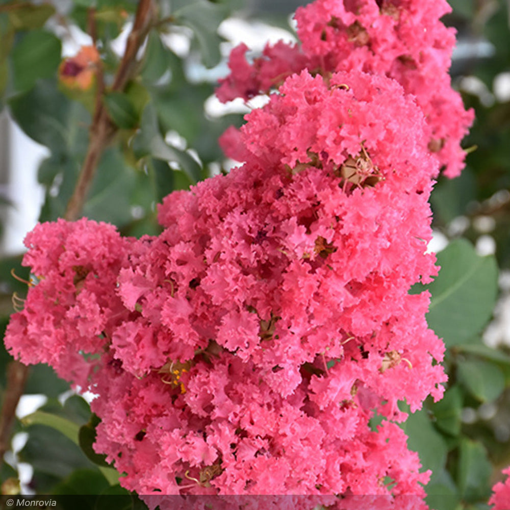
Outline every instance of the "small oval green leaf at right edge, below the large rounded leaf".
<svg viewBox="0 0 510 510"><path fill-rule="evenodd" d="M505 388L503 372L487 361L461 361L457 366L457 378L475 398L490 402L501 395Z"/></svg>

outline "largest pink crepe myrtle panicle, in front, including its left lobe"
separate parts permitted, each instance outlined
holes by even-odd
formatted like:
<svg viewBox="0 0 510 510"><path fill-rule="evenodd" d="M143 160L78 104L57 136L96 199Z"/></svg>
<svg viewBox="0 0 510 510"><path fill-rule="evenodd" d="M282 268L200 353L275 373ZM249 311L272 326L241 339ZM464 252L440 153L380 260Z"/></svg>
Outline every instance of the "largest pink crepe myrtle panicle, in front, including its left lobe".
<svg viewBox="0 0 510 510"><path fill-rule="evenodd" d="M139 494L425 509L395 422L446 380L429 296L408 292L437 274L426 136L391 78L292 75L247 116L242 167L164 199L161 235L37 226L7 347L97 395L95 449Z"/></svg>

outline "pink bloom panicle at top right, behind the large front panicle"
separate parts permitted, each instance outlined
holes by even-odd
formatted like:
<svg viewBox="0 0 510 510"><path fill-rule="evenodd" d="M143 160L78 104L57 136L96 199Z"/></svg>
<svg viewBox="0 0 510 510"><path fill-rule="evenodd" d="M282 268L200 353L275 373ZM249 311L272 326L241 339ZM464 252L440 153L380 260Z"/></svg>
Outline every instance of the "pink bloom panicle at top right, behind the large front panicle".
<svg viewBox="0 0 510 510"><path fill-rule="evenodd" d="M415 96L427 120L425 144L437 153L444 173L455 177L464 167L461 140L473 112L465 111L450 86L455 31L440 21L450 11L446 0L316 0L296 11L300 45L268 44L251 63L246 45L234 48L231 73L217 96L228 101L266 94L304 68L324 78L349 70L386 75ZM239 159L232 141L231 133L224 149Z"/></svg>

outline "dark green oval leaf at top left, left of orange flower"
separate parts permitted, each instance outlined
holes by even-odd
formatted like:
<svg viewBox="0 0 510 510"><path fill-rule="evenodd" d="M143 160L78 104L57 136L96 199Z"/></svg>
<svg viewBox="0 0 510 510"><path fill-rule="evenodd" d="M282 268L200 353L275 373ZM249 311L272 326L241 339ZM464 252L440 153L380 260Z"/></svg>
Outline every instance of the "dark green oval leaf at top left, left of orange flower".
<svg viewBox="0 0 510 510"><path fill-rule="evenodd" d="M14 87L18 92L24 92L38 79L56 75L61 60L61 42L50 32L33 30L14 46L11 55Z"/></svg>

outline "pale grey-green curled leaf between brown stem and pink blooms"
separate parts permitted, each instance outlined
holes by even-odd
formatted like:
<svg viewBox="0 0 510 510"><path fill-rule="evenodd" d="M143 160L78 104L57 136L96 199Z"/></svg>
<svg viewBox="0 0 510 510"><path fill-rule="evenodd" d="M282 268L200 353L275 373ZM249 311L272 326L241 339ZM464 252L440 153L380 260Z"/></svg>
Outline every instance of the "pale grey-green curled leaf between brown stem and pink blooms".
<svg viewBox="0 0 510 510"><path fill-rule="evenodd" d="M201 176L200 165L185 151L168 145L160 133L154 105L148 104L142 114L141 129L133 140L133 151L137 158L152 156L177 163L187 176L196 183Z"/></svg>

